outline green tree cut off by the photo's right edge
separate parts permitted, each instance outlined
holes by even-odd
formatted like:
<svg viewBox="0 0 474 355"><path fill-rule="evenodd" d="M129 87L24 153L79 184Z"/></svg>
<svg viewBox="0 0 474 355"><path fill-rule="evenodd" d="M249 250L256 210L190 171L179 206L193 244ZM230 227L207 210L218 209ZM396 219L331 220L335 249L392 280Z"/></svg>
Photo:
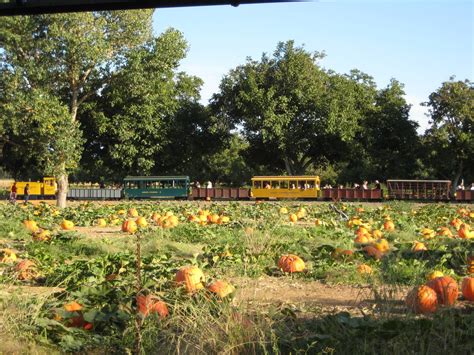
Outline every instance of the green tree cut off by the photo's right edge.
<svg viewBox="0 0 474 355"><path fill-rule="evenodd" d="M451 78L424 104L431 116L424 140L434 170L452 179L453 188L462 176L474 179L474 83Z"/></svg>

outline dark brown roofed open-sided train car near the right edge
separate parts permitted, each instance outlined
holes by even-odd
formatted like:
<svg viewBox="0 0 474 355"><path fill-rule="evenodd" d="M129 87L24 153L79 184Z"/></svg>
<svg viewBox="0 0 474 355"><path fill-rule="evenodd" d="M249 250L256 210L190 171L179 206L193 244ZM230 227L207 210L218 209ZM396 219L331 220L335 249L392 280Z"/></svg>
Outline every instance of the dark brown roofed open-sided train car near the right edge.
<svg viewBox="0 0 474 355"><path fill-rule="evenodd" d="M449 180L387 180L388 198L395 200L449 201Z"/></svg>

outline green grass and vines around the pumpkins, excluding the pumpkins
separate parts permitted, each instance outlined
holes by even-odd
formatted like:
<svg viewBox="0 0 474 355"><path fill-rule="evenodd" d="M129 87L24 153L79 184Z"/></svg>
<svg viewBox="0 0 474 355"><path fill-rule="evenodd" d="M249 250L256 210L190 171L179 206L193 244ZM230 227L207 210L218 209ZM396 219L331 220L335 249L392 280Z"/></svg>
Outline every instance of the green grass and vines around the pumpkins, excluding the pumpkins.
<svg viewBox="0 0 474 355"><path fill-rule="evenodd" d="M386 215L395 221L397 230L386 233L391 251L377 261L355 248L354 229L348 228L327 204L306 204L307 217L296 225L289 223L287 215L278 213L283 205L291 212L301 206L296 202L135 205L145 216L154 211L174 211L180 216L176 228L154 227L142 234L143 285L167 302L171 311L171 316L163 320L145 319L143 353L469 353L474 346L472 305L420 317L407 313L400 300L435 269L458 280L465 275L466 257L474 251L472 242L435 238L425 241L429 251L411 251L412 242L421 238L421 228L448 225L456 215L456 206L339 205L349 216L360 214L374 228L381 228ZM55 214L49 206L24 209L1 205L0 248L18 250L21 258L34 260L41 273L38 280L26 284L33 288L61 287L64 291L34 297L0 292L0 335L23 340L22 347L34 340L40 349L46 346L48 352L132 352L135 238L55 231L50 242L32 242L21 224L33 218L43 227L54 228L63 218L70 218L78 225L89 226L99 216L117 214L130 206L81 204ZM365 211L356 211L358 207ZM208 226L186 222L187 214L197 213L199 208L230 216L231 221L228 225ZM315 226L314 218L322 219L325 225ZM335 258L336 248L355 252L350 257ZM301 256L307 271L282 275L276 261L287 253ZM374 273L359 274L356 268L361 263L369 264ZM176 270L189 264L203 269L207 280L251 279L245 287L258 287L262 278L270 277L275 284L300 287L302 294L305 283L318 280L336 285L336 289L344 285L369 292L372 302L331 308L314 302L289 304L284 294L279 295L281 302L270 304L261 300L239 302L238 298L220 301L207 292L189 296L174 284ZM0 265L0 281L4 287L25 285L15 278L11 265ZM278 288L270 290L279 293ZM311 300L311 295L307 297ZM64 312L64 304L72 300L84 306L81 312L94 324L91 331L66 327L64 319L54 320L54 314Z"/></svg>

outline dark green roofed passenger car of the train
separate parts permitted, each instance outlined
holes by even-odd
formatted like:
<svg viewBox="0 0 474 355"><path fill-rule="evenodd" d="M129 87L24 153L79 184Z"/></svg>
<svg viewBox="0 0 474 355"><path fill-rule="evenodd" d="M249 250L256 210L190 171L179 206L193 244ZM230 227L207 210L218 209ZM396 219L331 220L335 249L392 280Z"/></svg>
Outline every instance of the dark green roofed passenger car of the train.
<svg viewBox="0 0 474 355"><path fill-rule="evenodd" d="M187 199L190 191L189 176L127 176L123 182L128 199Z"/></svg>

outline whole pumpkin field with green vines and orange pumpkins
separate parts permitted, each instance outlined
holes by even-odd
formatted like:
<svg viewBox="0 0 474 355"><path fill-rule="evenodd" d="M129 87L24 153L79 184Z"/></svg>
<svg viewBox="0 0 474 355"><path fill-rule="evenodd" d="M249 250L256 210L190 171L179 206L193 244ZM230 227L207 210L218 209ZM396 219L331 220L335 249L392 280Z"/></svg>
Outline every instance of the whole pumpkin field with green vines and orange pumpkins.
<svg viewBox="0 0 474 355"><path fill-rule="evenodd" d="M463 281L474 272L472 206L39 203L2 204L0 217L0 353L474 347L474 302L462 292L464 282L474 293ZM123 232L126 220L142 226ZM280 260L289 254L302 261ZM203 274L176 276L191 265ZM406 301L443 275L454 282L428 306Z"/></svg>

